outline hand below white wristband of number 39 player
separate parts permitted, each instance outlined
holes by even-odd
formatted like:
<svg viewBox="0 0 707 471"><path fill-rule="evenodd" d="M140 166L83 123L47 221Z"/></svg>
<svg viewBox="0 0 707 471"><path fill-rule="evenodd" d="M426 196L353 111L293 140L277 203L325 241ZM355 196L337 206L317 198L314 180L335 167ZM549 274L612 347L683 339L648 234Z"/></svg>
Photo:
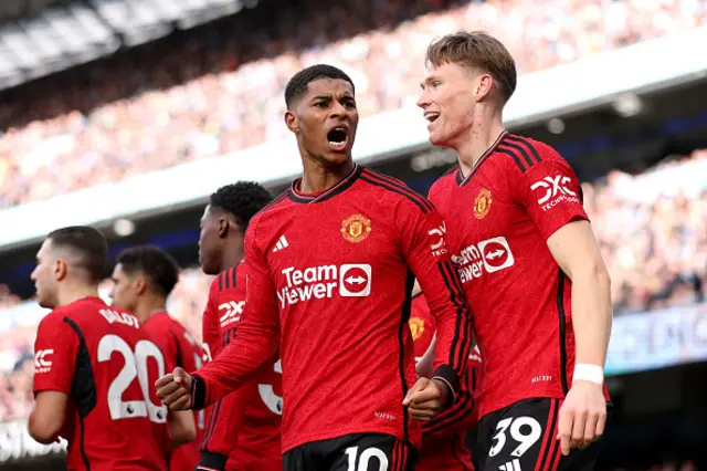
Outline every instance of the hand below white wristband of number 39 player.
<svg viewBox="0 0 707 471"><path fill-rule="evenodd" d="M601 385L577 380L560 407L557 440L563 456L599 440L606 423L606 400Z"/></svg>

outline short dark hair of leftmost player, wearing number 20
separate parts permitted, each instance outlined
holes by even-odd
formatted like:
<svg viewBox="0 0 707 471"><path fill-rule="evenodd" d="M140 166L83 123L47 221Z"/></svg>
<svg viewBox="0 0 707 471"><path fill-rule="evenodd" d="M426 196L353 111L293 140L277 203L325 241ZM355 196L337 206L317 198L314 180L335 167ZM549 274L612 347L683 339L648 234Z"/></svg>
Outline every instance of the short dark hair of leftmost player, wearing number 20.
<svg viewBox="0 0 707 471"><path fill-rule="evenodd" d="M88 226L68 226L50 232L46 239L53 247L75 253L80 259L76 263L91 274L91 280L101 281L106 271L108 242L99 230Z"/></svg>

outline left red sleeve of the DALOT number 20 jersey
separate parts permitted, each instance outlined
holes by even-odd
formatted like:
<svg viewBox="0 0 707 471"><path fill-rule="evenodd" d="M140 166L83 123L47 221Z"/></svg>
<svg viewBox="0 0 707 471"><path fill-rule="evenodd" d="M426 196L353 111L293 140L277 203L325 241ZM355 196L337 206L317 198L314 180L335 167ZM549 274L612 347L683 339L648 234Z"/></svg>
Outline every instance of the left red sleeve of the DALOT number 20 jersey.
<svg viewBox="0 0 707 471"><path fill-rule="evenodd" d="M51 313L42 320L34 342L34 394L53 390L70 394L78 337L64 316Z"/></svg>

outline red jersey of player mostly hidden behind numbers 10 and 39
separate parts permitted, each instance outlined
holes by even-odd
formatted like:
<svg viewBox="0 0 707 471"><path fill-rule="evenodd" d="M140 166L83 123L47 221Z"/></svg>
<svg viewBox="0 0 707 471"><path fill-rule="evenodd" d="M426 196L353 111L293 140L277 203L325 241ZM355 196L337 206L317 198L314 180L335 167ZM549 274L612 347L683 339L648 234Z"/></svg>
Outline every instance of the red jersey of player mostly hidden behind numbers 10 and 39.
<svg viewBox="0 0 707 471"><path fill-rule="evenodd" d="M424 294L412 297L410 329L415 356L422 357L434 336L435 323ZM478 349L474 348L466 364L456 402L443 410L434 420L422 425L422 449L418 471L469 471L474 469L472 453L466 448L466 432L476 427L474 385L481 366Z"/></svg>

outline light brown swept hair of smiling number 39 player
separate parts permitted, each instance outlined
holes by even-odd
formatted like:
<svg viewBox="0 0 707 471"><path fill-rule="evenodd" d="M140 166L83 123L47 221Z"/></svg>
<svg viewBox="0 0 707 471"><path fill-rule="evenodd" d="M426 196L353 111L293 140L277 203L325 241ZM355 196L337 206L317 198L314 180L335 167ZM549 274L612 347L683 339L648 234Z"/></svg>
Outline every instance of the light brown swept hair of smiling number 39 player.
<svg viewBox="0 0 707 471"><path fill-rule="evenodd" d="M500 41L483 31L462 31L432 41L425 62L434 66L454 63L488 72L498 84L504 103L516 91L518 74L513 55Z"/></svg>

